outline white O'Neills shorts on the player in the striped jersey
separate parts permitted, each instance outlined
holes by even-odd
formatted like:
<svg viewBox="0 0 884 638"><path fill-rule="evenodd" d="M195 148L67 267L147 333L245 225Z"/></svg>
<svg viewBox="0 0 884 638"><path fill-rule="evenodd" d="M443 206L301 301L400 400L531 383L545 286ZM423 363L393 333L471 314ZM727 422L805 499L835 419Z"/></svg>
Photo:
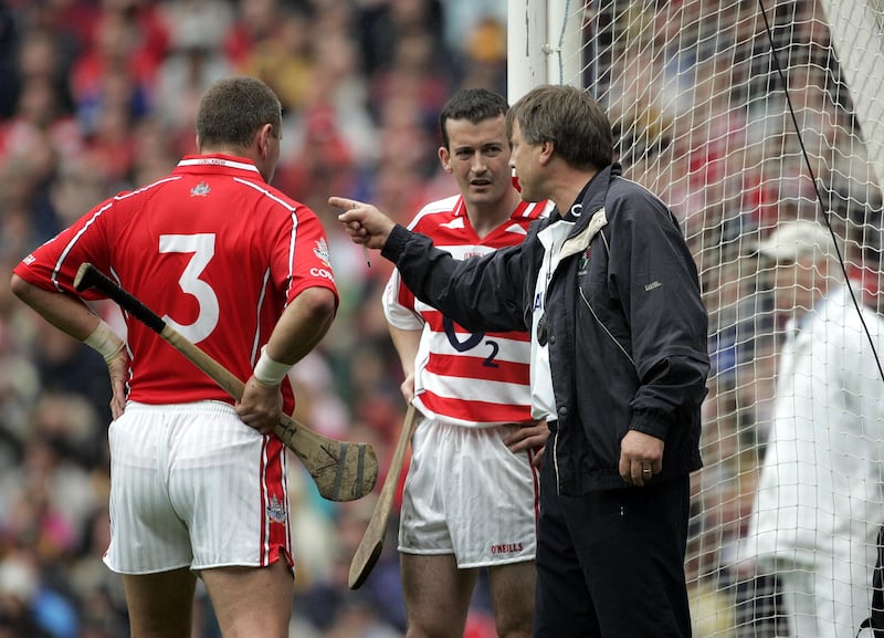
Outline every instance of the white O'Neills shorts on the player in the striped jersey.
<svg viewBox="0 0 884 638"><path fill-rule="evenodd" d="M538 474L533 452L514 454L503 443L515 429L419 420L402 494L400 552L454 554L460 568L534 559Z"/></svg>

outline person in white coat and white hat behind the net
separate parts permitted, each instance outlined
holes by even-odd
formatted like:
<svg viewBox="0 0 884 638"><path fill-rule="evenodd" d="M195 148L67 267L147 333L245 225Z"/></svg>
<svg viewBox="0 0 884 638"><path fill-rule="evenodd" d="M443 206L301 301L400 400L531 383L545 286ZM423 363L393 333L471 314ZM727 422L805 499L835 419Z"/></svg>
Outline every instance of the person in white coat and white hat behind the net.
<svg viewBox="0 0 884 638"><path fill-rule="evenodd" d="M884 523L884 317L822 224L785 221L758 253L788 321L747 547L778 577L790 636L854 638Z"/></svg>

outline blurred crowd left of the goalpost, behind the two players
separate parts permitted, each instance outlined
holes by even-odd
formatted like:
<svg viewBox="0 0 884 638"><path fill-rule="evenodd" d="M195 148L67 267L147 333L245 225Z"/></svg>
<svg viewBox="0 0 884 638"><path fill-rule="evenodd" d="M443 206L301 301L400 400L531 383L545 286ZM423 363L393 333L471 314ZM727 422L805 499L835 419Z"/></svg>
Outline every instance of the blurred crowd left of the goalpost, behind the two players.
<svg viewBox="0 0 884 638"><path fill-rule="evenodd" d="M502 15L502 11L504 11ZM438 179L438 115L454 88L506 92L505 3L430 0L10 0L0 2L0 263L196 150L193 114L217 79L261 77L284 108L274 185L313 208L341 303L318 353L293 372L298 420L372 442L381 470L404 414L370 268L329 195L401 221L454 185ZM109 389L101 357L36 320L0 278L0 636L127 635L107 545ZM97 306L118 330L109 304ZM371 498L322 500L293 458L293 635L400 636L396 542L369 582L347 568ZM380 477L382 480L383 477ZM394 529L392 522L391 529ZM207 598L199 638L217 636ZM471 631L493 621L477 596ZM493 629L492 629L493 631Z"/></svg>

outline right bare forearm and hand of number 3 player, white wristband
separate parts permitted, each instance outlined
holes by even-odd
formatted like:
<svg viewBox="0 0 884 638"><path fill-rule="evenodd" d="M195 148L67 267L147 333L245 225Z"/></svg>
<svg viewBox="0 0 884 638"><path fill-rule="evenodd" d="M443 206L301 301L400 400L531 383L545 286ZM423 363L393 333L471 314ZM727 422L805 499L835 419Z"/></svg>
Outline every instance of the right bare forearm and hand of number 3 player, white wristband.
<svg viewBox="0 0 884 638"><path fill-rule="evenodd" d="M325 287L309 287L288 304L236 404L243 422L264 435L273 431L283 415L283 377L322 341L336 310L335 295Z"/></svg>

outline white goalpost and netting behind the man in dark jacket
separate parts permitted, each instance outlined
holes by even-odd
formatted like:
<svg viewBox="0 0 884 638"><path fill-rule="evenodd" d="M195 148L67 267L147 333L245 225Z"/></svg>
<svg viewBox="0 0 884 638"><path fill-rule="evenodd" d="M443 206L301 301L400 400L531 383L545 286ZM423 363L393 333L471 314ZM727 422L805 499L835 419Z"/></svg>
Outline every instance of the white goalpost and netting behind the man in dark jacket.
<svg viewBox="0 0 884 638"><path fill-rule="evenodd" d="M783 343L779 284L755 248L786 220L814 220L836 238L835 274L884 287L884 0L509 0L507 34L511 103L540 83L590 91L624 175L670 205L697 263L713 367L685 565L694 635L786 636L793 592L747 537ZM865 381L884 402L884 378ZM884 463L883 419L860 418L855 466ZM884 470L876 490L852 524L884 522Z"/></svg>

